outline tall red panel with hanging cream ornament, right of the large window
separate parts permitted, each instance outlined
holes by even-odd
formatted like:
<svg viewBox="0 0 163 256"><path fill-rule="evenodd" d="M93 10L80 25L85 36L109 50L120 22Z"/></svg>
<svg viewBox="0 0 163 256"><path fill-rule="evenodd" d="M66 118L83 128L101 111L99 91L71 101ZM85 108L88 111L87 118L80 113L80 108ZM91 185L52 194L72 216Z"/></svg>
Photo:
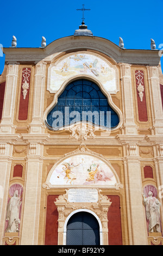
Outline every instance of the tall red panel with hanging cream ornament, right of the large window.
<svg viewBox="0 0 163 256"><path fill-rule="evenodd" d="M139 113L139 121L148 121L144 72L142 70L136 70L135 78L136 78L136 92L137 92L137 106L138 106L138 113ZM143 93L142 98L140 96L140 90L138 89L139 86L142 86L144 88L142 92Z"/></svg>

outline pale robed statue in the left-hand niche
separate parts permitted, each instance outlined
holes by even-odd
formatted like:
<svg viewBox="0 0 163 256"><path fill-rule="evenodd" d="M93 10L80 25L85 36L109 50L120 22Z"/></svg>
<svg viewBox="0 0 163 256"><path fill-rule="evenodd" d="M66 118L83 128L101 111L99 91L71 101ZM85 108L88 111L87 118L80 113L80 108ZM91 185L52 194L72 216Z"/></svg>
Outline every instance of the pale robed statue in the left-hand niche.
<svg viewBox="0 0 163 256"><path fill-rule="evenodd" d="M19 212L21 205L21 198L18 194L18 190L15 190L14 195L9 200L7 206L7 216L6 220L8 221L8 227L5 229L5 232L18 232L20 224Z"/></svg>

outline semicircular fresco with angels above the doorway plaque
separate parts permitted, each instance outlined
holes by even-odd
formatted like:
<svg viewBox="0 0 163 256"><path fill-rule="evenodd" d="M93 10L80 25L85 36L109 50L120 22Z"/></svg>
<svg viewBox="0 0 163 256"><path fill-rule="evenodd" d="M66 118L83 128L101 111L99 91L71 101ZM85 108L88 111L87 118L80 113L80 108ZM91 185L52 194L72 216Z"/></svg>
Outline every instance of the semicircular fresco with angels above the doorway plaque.
<svg viewBox="0 0 163 256"><path fill-rule="evenodd" d="M115 185L111 168L97 157L75 155L58 164L49 179L51 185Z"/></svg>

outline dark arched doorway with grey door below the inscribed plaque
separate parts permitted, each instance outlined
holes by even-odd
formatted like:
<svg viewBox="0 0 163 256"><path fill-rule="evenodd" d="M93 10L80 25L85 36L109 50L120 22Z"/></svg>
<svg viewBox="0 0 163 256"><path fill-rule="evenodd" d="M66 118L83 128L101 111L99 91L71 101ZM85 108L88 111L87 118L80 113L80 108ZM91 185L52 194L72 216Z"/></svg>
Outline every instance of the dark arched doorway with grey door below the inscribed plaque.
<svg viewBox="0 0 163 256"><path fill-rule="evenodd" d="M74 214L67 223L66 245L100 245L95 216L85 211Z"/></svg>

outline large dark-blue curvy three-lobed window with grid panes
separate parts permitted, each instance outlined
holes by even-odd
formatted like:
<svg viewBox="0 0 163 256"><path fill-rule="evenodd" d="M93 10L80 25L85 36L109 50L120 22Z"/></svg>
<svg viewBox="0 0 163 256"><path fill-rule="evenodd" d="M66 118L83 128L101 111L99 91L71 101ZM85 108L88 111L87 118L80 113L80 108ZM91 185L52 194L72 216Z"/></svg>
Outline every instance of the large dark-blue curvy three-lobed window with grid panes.
<svg viewBox="0 0 163 256"><path fill-rule="evenodd" d="M107 97L96 83L89 80L80 79L68 84L46 119L52 130L78 122L105 129L112 129L119 123L118 114L109 105Z"/></svg>

